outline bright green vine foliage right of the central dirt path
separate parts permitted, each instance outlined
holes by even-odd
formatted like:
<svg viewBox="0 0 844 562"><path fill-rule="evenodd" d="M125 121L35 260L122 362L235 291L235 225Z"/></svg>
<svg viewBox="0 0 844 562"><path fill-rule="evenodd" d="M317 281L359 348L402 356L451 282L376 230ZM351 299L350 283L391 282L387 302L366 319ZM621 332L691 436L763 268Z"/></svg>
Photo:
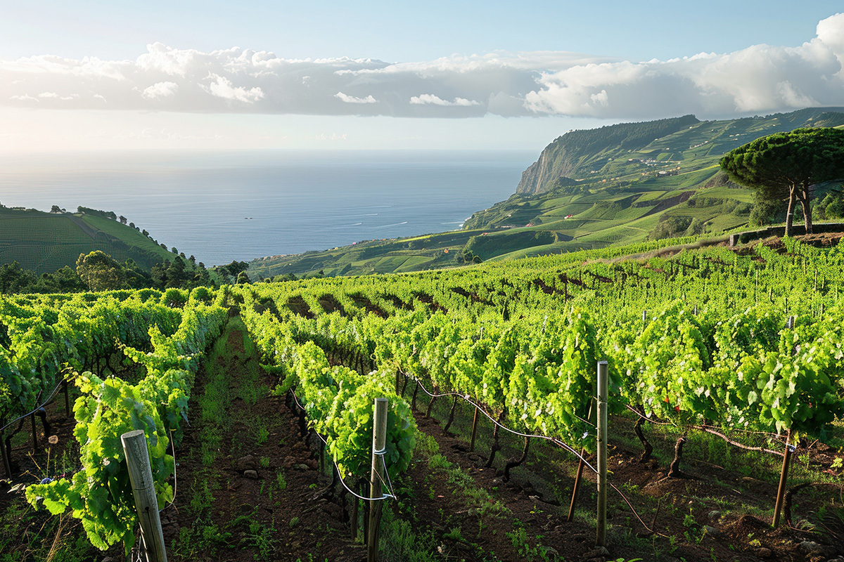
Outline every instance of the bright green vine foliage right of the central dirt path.
<svg viewBox="0 0 844 562"><path fill-rule="evenodd" d="M785 243L619 262L581 252L233 291L279 389L296 389L344 468L354 455L364 466L366 448L356 447L371 435L371 420L350 424L356 433L332 426L367 403L345 402L344 389L366 381L394 395L400 373L517 431L592 449L587 412L601 359L615 411L684 429L823 439L844 414L844 262L838 249ZM410 423L398 404L396 420ZM338 441L341 426L354 438Z"/></svg>

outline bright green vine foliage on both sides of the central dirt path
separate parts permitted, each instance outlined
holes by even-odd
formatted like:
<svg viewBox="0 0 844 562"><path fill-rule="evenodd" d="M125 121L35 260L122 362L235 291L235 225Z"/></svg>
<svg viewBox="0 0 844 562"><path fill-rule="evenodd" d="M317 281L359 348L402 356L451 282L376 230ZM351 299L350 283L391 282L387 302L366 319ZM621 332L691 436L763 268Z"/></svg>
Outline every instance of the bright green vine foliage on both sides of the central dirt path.
<svg viewBox="0 0 844 562"><path fill-rule="evenodd" d="M824 439L844 415L844 250L786 239L742 254L716 247L619 260L654 249L218 292L0 298L3 417L33 409L68 372L82 392L74 414L83 469L30 486L27 497L54 513L70 508L100 548L131 545L120 435L146 431L164 506L168 447L188 419L198 359L235 309L278 376L276 392L303 405L344 478L363 477L371 463L378 397L390 403L389 474L408 467L415 423L405 388L414 379L517 431L591 450L587 412L603 359L616 411ZM494 455L495 445L490 463Z"/></svg>

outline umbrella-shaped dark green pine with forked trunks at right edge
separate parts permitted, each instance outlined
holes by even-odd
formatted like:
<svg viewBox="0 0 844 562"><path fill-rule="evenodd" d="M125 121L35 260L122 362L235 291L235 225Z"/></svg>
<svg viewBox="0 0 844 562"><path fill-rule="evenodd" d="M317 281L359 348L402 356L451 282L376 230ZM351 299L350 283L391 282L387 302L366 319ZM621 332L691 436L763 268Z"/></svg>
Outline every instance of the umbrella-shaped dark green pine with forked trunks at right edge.
<svg viewBox="0 0 844 562"><path fill-rule="evenodd" d="M811 187L844 178L844 131L803 127L763 136L721 158L734 182L756 190L758 201L787 199L786 233L791 234L794 204L800 201L806 232L812 232Z"/></svg>

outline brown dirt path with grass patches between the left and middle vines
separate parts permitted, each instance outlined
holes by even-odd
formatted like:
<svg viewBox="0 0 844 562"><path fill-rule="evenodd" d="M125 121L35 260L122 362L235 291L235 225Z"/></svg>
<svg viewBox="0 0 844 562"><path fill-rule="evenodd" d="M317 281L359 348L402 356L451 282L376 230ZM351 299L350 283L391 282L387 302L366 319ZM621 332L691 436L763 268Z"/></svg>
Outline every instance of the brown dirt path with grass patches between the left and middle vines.
<svg viewBox="0 0 844 562"><path fill-rule="evenodd" d="M357 560L362 547L330 479L302 441L238 319L197 376L191 428L177 452L176 503L162 512L174 560ZM365 554L363 555L365 558Z"/></svg>

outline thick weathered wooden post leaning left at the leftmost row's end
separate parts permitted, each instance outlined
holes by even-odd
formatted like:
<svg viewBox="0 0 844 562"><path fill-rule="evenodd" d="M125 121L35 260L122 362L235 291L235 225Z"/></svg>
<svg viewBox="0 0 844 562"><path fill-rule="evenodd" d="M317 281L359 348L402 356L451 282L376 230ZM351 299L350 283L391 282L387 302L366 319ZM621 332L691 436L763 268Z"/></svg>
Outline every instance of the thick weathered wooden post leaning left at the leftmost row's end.
<svg viewBox="0 0 844 562"><path fill-rule="evenodd" d="M120 440L126 453L129 480L135 496L138 510L138 522L141 524L141 537L146 546L149 562L167 562L164 547L164 533L161 532L161 519L158 500L155 497L153 472L149 467L149 449L143 430L127 431Z"/></svg>

